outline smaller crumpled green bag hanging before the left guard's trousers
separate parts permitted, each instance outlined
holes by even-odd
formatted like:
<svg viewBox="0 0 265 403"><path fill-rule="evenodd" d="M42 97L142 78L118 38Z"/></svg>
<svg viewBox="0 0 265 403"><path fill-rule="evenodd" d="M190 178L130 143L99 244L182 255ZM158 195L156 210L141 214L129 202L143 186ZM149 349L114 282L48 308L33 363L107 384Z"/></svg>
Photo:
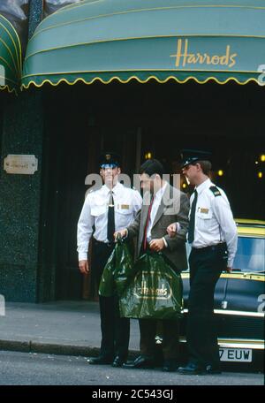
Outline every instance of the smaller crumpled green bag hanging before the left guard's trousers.
<svg viewBox="0 0 265 403"><path fill-rule="evenodd" d="M120 238L102 272L99 294L102 297L120 295L133 277L131 245Z"/></svg>

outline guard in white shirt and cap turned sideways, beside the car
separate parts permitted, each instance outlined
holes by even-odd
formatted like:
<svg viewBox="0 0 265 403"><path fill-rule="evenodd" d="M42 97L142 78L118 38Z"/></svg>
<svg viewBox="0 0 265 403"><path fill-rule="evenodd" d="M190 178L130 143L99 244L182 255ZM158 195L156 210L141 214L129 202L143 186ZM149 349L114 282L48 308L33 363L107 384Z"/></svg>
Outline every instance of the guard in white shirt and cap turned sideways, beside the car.
<svg viewBox="0 0 265 403"><path fill-rule="evenodd" d="M190 293L188 300L187 343L189 362L179 368L181 374L220 373L219 350L214 326L214 293L223 270L231 272L237 250L238 235L229 201L223 190L208 178L209 153L184 150L182 171L191 185L187 240ZM174 224L168 227L173 235Z"/></svg>

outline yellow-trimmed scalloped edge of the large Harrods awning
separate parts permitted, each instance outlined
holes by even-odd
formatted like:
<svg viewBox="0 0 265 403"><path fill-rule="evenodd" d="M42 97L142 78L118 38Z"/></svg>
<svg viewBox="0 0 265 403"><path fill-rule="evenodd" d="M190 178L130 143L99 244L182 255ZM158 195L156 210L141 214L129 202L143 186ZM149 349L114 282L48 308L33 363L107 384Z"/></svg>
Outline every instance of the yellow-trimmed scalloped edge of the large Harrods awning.
<svg viewBox="0 0 265 403"><path fill-rule="evenodd" d="M79 78L77 78L76 80L74 80L74 81L72 81L72 82L64 78L64 79L58 80L56 83L52 82L51 80L43 80L41 84L36 84L36 83L34 82L34 80L31 80L31 81L28 82L28 84L22 84L20 88L21 88L21 90L23 90L23 89L27 89L28 87L30 87L30 86L32 86L32 85L33 85L34 87L40 88L40 87L42 87L42 86L43 86L44 84L46 84L46 83L49 83L49 84L50 84L51 86L53 86L53 87L57 87L57 86L58 86L59 84L61 84L62 82L66 83L66 84L68 84L68 85L70 85L70 86L73 86L73 85L75 85L78 81L79 81L79 82L83 82L83 83L86 84L86 85L94 84L95 81L100 81L100 82L102 82L102 84L110 84L110 82L112 82L112 81L114 81L114 80L117 80L118 82L120 82L120 83L122 83L122 84L126 84L126 83L128 83L129 81L131 81L131 80L137 80L137 81L140 82L141 84L144 84L144 83L148 82L149 80L155 80L155 81L157 81L157 82L160 83L160 84L163 84L163 83L165 83L165 82L167 82L167 81L169 81L169 80L175 80L175 81L178 82L178 84L185 84L188 80L194 80L194 81L196 81L198 84L205 84L205 83L207 83L209 80L214 80L214 81L216 81L217 84L221 84L221 85L227 84L227 82L229 82L229 81L235 81L235 82L237 82L237 84L239 84L239 85L246 85L246 84L248 84L250 81L254 81L255 83L259 84L259 81L256 80L256 79L254 79L254 78L250 78L250 79L245 80L244 82L240 82L236 77L229 77L228 79L226 79L226 80L224 80L224 81L220 81L220 80L216 79L216 77L208 77L208 78L205 79L205 80L198 80L196 77L190 76L190 77L187 77L185 80L179 80L179 79L178 79L177 77L175 77L175 76L169 76L169 77L167 77L167 78L164 79L164 80L160 80L160 79L158 79L158 78L155 77L155 76L149 76L149 77L148 77L147 79L145 79L145 80L140 80L140 78L137 77L137 76L131 76L131 77L129 77L129 78L126 79L126 80L122 80L122 79L120 79L120 78L117 77L117 76L113 76L113 77L110 78L110 80L103 80L101 77L95 77L93 80L89 80L89 81L84 80L83 78L79 77ZM260 85L260 84L259 84L259 85Z"/></svg>

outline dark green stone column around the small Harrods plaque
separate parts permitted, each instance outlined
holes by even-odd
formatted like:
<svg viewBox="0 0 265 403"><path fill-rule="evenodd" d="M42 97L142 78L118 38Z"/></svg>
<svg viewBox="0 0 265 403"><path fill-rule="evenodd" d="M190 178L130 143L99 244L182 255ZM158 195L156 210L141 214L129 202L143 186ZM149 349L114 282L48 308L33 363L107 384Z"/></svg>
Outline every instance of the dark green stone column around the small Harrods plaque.
<svg viewBox="0 0 265 403"><path fill-rule="evenodd" d="M29 37L42 20L42 0L29 0ZM4 107L0 171L0 293L5 300L36 302L42 179L42 91L29 89ZM8 174L9 154L34 155L33 175Z"/></svg>

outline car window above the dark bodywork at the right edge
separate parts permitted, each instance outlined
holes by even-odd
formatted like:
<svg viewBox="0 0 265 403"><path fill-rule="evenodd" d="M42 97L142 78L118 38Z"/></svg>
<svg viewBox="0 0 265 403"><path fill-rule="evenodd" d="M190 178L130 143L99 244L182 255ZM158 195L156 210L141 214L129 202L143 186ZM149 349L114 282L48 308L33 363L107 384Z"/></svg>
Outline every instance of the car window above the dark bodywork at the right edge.
<svg viewBox="0 0 265 403"><path fill-rule="evenodd" d="M265 240L262 238L239 237L233 270L264 271Z"/></svg>

